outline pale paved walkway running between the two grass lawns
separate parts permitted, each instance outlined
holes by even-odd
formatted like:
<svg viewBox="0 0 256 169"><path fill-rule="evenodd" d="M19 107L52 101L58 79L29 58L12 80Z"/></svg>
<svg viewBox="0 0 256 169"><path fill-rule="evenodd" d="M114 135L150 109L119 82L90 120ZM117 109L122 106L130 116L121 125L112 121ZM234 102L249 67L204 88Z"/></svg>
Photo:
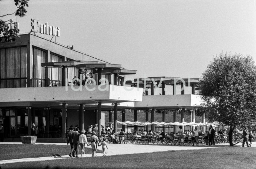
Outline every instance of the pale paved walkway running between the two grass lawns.
<svg viewBox="0 0 256 169"><path fill-rule="evenodd" d="M0 142L0 144L22 144L20 142ZM35 144L54 144L54 145L67 145L66 143L35 143ZM241 146L242 143L238 143L236 146ZM218 144L215 146L166 146L166 145L137 145L137 144L108 144L106 155L120 155L120 154L137 154L137 153L152 153L157 151L178 151L178 150L198 150L215 148L220 146L228 146L228 144ZM90 146L89 146L90 147ZM254 143L252 147L256 147ZM98 147L102 150L101 147ZM97 153L97 156L102 156L102 153ZM79 154L80 157L80 154ZM85 157L91 157L91 154L86 154ZM45 160L57 160L71 158L68 155L62 155L61 157L39 157L39 158L22 158L12 160L2 160L0 164L14 163L14 162L29 162L29 161L45 161Z"/></svg>

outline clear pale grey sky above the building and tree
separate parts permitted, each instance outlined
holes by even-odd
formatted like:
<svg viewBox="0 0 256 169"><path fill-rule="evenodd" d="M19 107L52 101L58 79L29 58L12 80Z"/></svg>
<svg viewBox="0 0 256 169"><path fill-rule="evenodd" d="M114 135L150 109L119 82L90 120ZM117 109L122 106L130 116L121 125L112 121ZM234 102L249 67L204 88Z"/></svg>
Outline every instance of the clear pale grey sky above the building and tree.
<svg viewBox="0 0 256 169"><path fill-rule="evenodd" d="M0 1L0 15L15 9ZM255 0L30 0L27 11L17 18L21 33L31 18L60 27L57 42L137 70L128 78L199 78L222 51L256 61Z"/></svg>

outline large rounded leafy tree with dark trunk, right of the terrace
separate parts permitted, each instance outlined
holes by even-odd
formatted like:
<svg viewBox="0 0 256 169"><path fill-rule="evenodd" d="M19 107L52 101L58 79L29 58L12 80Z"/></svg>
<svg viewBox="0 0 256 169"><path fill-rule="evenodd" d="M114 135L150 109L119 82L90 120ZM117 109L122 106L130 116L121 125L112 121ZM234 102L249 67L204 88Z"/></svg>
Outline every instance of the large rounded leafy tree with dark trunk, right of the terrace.
<svg viewBox="0 0 256 169"><path fill-rule="evenodd" d="M219 54L207 66L199 83L204 107L211 121L230 126L229 143L233 146L233 130L256 120L256 65L252 57L241 54Z"/></svg>

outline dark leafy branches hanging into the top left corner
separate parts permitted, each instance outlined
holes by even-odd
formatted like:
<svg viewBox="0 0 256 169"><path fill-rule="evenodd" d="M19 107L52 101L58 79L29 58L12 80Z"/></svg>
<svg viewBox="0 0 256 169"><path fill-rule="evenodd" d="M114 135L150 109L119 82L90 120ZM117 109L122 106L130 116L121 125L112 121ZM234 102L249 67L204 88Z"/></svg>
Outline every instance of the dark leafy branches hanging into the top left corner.
<svg viewBox="0 0 256 169"><path fill-rule="evenodd" d="M13 12L12 14L5 14L2 15L0 17L4 17L4 16L8 16L8 15L13 15L15 14L15 16L19 16L19 17L23 17L25 16L25 13L27 12L27 10L24 7L29 7L28 5L28 1L29 0L14 0L15 5L17 6L17 10L15 12ZM4 39L4 42L12 42L15 41L16 37L19 37L18 33L19 33L19 29L14 26L12 28L10 28L8 26L8 22L12 22L12 20L7 20L4 21L3 19L0 20L0 42Z"/></svg>

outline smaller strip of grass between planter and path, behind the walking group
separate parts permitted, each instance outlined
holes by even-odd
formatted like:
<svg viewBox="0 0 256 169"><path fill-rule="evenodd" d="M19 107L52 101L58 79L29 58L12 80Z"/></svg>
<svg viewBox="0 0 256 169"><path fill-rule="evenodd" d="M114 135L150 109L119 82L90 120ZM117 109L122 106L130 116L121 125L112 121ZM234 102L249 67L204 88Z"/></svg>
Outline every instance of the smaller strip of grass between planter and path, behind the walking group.
<svg viewBox="0 0 256 169"><path fill-rule="evenodd" d="M89 146L90 147L90 146ZM31 145L31 144L1 144L0 160L10 160L18 158L49 157L52 154L68 155L70 145ZM86 154L91 153L91 148L85 146ZM81 147L79 148L79 154ZM98 150L97 152L102 152Z"/></svg>

